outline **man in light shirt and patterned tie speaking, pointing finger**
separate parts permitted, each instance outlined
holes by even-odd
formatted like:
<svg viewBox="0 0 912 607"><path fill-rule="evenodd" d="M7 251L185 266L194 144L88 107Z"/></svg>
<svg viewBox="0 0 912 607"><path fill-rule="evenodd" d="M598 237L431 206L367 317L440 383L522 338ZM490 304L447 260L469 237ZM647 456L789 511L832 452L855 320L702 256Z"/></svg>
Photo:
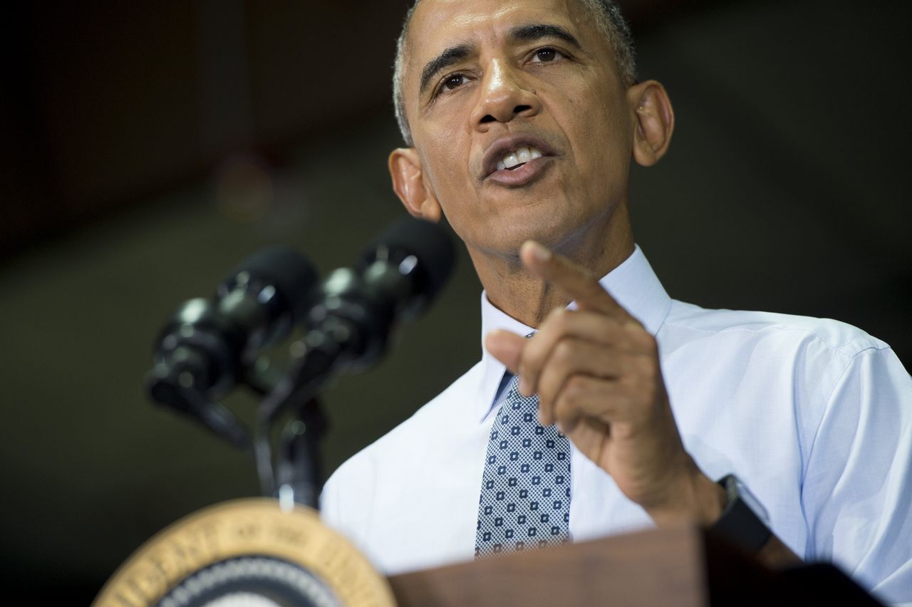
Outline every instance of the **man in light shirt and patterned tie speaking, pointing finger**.
<svg viewBox="0 0 912 607"><path fill-rule="evenodd" d="M912 602L912 379L849 325L669 298L627 190L674 114L617 6L420 0L397 52L393 188L465 242L484 349L326 521L388 573L689 521Z"/></svg>

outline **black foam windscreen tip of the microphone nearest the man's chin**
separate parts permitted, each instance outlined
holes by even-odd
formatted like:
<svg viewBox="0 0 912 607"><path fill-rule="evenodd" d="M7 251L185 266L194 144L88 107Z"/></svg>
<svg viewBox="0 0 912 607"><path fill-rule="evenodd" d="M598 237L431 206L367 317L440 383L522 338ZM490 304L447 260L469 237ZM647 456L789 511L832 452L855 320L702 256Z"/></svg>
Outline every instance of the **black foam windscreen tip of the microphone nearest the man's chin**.
<svg viewBox="0 0 912 607"><path fill-rule="evenodd" d="M403 257L414 255L418 259L424 282L422 294L428 298L440 291L456 262L456 250L446 229L438 223L409 215L394 221L370 244L362 256L362 264L375 260L381 247Z"/></svg>

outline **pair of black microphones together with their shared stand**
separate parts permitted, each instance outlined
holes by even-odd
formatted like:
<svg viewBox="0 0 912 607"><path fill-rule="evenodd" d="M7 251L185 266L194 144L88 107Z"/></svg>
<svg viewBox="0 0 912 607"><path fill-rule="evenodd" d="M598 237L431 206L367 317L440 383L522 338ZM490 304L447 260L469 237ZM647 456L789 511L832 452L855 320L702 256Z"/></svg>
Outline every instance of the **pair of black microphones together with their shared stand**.
<svg viewBox="0 0 912 607"><path fill-rule="evenodd" d="M185 302L166 324L147 378L150 396L235 447L252 445L265 496L316 509L326 429L317 394L333 376L375 365L390 332L430 305L454 261L447 232L410 217L390 225L355 267L337 269L319 285L299 253L257 253L214 298ZM287 368L278 369L262 348L299 323L306 334L292 344ZM218 402L237 385L261 396L253 437Z"/></svg>

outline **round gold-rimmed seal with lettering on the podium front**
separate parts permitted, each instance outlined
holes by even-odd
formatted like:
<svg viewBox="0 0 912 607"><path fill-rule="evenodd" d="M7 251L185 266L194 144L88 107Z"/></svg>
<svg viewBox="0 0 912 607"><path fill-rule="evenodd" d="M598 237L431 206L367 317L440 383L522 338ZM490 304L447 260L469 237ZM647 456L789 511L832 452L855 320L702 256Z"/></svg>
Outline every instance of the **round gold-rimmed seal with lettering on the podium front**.
<svg viewBox="0 0 912 607"><path fill-rule="evenodd" d="M261 561L250 570L258 575L268 573L263 562L275 565L277 579L285 581L293 577L287 570L300 571L307 582L297 583L299 588L323 589L324 598L316 592L313 604L396 604L387 581L348 540L326 528L314 510L285 510L275 499L256 498L217 504L162 530L120 566L93 605L195 604L188 591L174 589L201 572L204 577L189 584L198 595L201 588L219 592L218 581L233 582L223 586L246 592L243 583L230 579L246 561Z"/></svg>

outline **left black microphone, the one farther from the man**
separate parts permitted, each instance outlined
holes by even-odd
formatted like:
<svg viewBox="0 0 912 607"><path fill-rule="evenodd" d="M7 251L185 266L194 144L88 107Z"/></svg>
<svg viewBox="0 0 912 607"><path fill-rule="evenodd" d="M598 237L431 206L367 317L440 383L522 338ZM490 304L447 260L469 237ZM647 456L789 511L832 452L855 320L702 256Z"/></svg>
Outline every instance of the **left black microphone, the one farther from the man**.
<svg viewBox="0 0 912 607"><path fill-rule="evenodd" d="M254 253L218 287L214 298L181 304L156 342L147 376L153 400L195 417L244 447L247 432L214 402L237 383L268 391L273 383L254 368L257 352L291 333L306 316L316 271L286 247Z"/></svg>

